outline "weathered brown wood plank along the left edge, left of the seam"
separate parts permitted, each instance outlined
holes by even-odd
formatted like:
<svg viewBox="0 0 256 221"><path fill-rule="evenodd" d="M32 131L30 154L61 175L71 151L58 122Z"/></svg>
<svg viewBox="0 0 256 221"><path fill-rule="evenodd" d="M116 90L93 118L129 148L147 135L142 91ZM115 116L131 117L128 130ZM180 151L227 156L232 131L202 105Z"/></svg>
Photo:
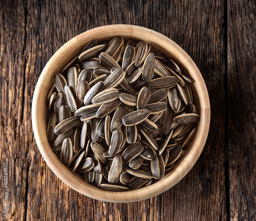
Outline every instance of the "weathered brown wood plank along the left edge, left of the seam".
<svg viewBox="0 0 256 221"><path fill-rule="evenodd" d="M25 106L25 87L33 85L26 82L24 71L26 60L25 10L22 3L0 3L0 102L1 102L1 187L4 189L4 163L8 163L8 218L24 220L27 205L27 179L29 161L27 161L32 131L29 130L30 118ZM5 19L14 15L12 19ZM28 127L26 127L28 126ZM4 190L2 191L4 193ZM4 194L2 195L4 196ZM4 201L1 197L3 211ZM19 213L16 213L19 211ZM4 216L2 212L1 216Z"/></svg>

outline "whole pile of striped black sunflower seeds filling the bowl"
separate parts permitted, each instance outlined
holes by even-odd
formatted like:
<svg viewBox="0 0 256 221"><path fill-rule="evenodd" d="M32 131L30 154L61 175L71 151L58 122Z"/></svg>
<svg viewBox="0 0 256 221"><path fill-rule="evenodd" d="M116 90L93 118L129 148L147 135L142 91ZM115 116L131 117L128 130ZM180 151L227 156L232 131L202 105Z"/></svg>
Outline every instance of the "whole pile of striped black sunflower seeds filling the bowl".
<svg viewBox="0 0 256 221"><path fill-rule="evenodd" d="M188 75L144 41L93 39L53 80L47 138L61 162L104 190L161 179L200 119Z"/></svg>

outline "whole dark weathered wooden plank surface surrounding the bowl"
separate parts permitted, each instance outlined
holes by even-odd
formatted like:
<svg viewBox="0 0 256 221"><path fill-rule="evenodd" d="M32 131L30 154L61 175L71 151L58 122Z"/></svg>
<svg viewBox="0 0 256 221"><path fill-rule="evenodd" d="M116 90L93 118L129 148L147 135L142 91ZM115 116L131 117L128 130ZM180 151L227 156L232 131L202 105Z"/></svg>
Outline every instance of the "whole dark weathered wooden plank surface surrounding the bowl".
<svg viewBox="0 0 256 221"><path fill-rule="evenodd" d="M11 220L256 220L256 5L249 0L0 1L1 220L8 163ZM49 169L31 125L33 91L50 57L79 33L110 24L153 29L201 71L211 125L196 165L145 201L79 194Z"/></svg>

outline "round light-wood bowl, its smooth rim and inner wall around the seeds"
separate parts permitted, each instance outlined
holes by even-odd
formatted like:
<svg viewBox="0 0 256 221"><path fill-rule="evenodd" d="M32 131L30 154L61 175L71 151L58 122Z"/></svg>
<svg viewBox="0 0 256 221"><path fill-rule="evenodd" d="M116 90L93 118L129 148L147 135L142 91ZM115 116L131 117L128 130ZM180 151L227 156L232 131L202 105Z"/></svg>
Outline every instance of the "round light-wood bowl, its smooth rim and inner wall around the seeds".
<svg viewBox="0 0 256 221"><path fill-rule="evenodd" d="M161 180L150 186L125 192L106 191L91 184L87 184L83 180L83 176L76 172L72 173L70 168L61 163L46 137L46 116L49 112L47 95L53 84L54 74L59 73L67 63L76 57L91 39L96 38L98 41L103 41L105 39L111 39L116 35L124 39L133 38L146 41L152 48L172 57L181 68L189 74L192 80L190 85L194 96L194 104L200 115L196 133L193 139L191 139L185 155L175 163L174 168L167 171ZM206 142L209 123L210 104L206 85L193 60L181 47L166 36L150 29L132 25L103 26L86 31L68 41L46 64L36 84L32 102L34 136L42 157L45 159L48 166L60 180L72 189L89 197L106 202L127 203L145 200L177 184L198 160Z"/></svg>

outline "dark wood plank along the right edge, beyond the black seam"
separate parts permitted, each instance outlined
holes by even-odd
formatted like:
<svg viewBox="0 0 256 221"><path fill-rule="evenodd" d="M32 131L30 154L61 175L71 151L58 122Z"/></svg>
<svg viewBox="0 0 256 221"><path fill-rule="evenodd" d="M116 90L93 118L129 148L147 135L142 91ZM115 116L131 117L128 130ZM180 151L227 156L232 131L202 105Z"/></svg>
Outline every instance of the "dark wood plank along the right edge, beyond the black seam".
<svg viewBox="0 0 256 221"><path fill-rule="evenodd" d="M255 4L227 1L230 220L256 219Z"/></svg>

